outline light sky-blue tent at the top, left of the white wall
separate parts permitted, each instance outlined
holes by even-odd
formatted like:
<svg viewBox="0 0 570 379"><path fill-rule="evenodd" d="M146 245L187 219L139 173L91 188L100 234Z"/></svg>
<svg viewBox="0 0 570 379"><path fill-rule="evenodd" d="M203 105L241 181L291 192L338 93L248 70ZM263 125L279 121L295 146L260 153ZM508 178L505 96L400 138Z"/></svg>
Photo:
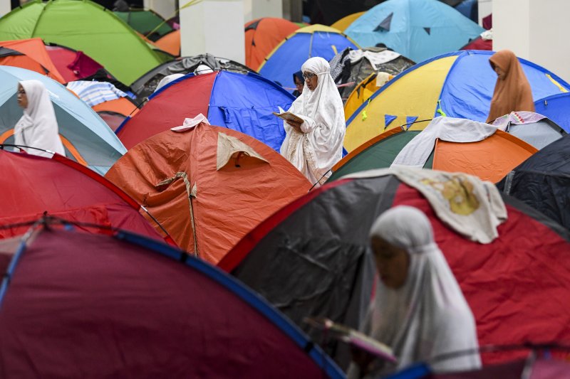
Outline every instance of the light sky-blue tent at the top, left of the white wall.
<svg viewBox="0 0 570 379"><path fill-rule="evenodd" d="M388 0L351 23L345 33L360 46L383 43L420 62L459 50L484 31L437 0Z"/></svg>

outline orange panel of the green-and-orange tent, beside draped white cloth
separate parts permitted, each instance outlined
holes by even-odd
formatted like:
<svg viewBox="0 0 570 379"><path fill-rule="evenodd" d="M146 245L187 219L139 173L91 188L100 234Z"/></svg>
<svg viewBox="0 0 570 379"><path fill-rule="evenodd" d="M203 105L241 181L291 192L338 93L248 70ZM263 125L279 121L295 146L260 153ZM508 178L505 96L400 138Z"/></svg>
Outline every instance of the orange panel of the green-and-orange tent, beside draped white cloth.
<svg viewBox="0 0 570 379"><path fill-rule="evenodd" d="M465 172L497 183L537 151L527 142L497 130L480 142L459 144L437 140L432 168Z"/></svg>

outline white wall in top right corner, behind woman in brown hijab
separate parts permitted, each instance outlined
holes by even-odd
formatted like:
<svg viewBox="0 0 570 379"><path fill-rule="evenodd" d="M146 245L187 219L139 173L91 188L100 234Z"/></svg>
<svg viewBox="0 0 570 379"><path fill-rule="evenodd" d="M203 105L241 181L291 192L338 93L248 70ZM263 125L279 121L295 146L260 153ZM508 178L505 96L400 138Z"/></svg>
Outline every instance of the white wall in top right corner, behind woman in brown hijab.
<svg viewBox="0 0 570 379"><path fill-rule="evenodd" d="M493 50L509 49L570 81L568 0L494 0Z"/></svg>

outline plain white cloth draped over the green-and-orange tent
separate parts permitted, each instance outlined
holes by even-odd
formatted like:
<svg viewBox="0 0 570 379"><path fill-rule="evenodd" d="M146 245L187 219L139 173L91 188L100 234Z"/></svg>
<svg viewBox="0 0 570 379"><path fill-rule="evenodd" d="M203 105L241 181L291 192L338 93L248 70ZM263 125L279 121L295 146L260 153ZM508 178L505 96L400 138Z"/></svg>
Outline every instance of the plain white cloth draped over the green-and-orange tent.
<svg viewBox="0 0 570 379"><path fill-rule="evenodd" d="M404 146L390 167L423 167L435 146L435 140L447 142L477 142L497 131L484 122L454 117L436 117L430 124Z"/></svg>

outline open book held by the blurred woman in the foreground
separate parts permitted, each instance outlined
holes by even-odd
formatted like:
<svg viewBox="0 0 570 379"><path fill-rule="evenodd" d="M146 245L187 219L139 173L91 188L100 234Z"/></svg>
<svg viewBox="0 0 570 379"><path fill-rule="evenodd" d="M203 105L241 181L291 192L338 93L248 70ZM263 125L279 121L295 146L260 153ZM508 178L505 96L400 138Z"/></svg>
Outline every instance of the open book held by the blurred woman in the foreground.
<svg viewBox="0 0 570 379"><path fill-rule="evenodd" d="M339 341L346 342L355 348L366 351L367 353L383 359L384 361L390 361L393 363L398 362L389 346L376 341L374 338L366 336L366 334L361 333L360 331L356 331L342 324L336 324L335 322L324 318L308 317L305 318L304 321L315 328L328 331L331 337L336 338Z"/></svg>

